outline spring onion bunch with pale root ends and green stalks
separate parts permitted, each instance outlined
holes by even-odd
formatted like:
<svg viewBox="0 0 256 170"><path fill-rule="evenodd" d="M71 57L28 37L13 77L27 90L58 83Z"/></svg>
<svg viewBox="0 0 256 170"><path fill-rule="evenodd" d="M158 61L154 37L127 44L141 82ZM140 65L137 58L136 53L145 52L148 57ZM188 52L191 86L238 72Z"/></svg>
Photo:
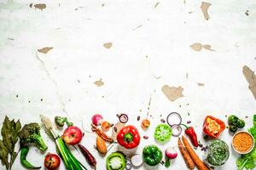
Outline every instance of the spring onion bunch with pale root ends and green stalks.
<svg viewBox="0 0 256 170"><path fill-rule="evenodd" d="M55 133L52 123L49 118L41 115L41 122L44 125L45 132L49 135L49 137L55 140L56 148L61 156L67 170L87 170L84 165L73 156L71 150L67 147L65 142L61 139L60 135Z"/></svg>

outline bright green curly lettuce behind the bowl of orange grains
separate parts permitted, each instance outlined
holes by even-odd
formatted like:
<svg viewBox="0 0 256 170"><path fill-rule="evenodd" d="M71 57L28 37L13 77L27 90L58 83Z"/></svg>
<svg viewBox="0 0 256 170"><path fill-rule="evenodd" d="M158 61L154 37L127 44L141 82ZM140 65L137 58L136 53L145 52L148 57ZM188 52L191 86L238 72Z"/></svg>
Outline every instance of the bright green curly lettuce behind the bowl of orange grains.
<svg viewBox="0 0 256 170"><path fill-rule="evenodd" d="M253 127L249 128L248 132L253 135L256 141L256 115L253 116ZM236 160L236 166L238 170L242 170L243 168L254 169L256 167L256 146L254 146L250 153L241 155L241 157Z"/></svg>

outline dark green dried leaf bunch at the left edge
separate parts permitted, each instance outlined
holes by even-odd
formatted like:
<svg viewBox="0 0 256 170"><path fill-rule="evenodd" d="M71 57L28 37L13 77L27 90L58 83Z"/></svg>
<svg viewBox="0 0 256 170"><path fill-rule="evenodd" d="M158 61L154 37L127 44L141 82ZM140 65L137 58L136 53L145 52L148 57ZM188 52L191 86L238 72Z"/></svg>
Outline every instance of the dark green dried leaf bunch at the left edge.
<svg viewBox="0 0 256 170"><path fill-rule="evenodd" d="M9 117L5 116L3 127L1 129L3 139L0 139L0 159L7 170L12 168L12 165L18 155L18 153L15 152L15 144L18 141L20 128L20 120L17 122L15 122L14 119L10 121Z"/></svg>

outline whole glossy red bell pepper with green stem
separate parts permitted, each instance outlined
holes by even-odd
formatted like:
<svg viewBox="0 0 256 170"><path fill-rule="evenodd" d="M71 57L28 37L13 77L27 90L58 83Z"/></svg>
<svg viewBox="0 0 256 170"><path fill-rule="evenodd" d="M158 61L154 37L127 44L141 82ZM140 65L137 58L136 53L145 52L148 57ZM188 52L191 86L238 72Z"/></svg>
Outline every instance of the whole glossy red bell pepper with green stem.
<svg viewBox="0 0 256 170"><path fill-rule="evenodd" d="M140 144L140 134L134 126L126 126L120 129L117 135L118 143L126 149L136 148Z"/></svg>

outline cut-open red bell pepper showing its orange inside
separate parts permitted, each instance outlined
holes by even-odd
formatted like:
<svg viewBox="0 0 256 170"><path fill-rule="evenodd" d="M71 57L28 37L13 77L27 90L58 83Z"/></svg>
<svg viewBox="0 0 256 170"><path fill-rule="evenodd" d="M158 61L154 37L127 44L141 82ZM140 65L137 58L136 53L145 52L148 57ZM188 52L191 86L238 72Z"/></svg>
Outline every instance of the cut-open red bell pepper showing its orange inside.
<svg viewBox="0 0 256 170"><path fill-rule="evenodd" d="M204 122L203 131L207 136L216 139L224 131L225 127L226 125L223 121L213 116L207 116Z"/></svg>

